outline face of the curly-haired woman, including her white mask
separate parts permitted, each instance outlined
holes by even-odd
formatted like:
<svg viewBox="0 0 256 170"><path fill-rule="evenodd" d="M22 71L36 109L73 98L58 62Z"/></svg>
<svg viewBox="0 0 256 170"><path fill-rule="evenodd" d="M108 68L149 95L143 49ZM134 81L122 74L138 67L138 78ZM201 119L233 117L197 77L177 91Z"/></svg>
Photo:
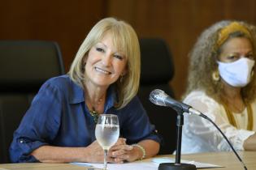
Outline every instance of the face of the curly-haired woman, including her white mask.
<svg viewBox="0 0 256 170"><path fill-rule="evenodd" d="M253 46L245 37L228 40L219 55L219 75L227 87L245 87L254 68Z"/></svg>

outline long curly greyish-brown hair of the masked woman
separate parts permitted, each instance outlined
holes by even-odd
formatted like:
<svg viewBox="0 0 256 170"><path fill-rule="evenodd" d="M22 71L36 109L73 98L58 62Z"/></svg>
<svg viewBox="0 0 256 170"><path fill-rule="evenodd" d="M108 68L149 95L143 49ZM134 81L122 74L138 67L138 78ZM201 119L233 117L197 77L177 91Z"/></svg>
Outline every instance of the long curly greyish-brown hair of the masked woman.
<svg viewBox="0 0 256 170"><path fill-rule="evenodd" d="M241 26L247 29L250 36L248 36L245 32L236 30L236 32L230 32L228 34L228 38L223 41L223 44L233 37L246 37L250 40L253 46L254 55L256 54L256 28L254 25L233 20L223 20L213 24L210 26L210 28L207 28L204 32L202 32L202 34L198 37L196 44L193 46L193 49L189 53L190 62L188 87L184 96L187 96L191 91L202 90L205 91L208 96L221 103L223 84L220 83L220 81L215 81L212 79L211 75L218 70L218 64L216 61L223 46L223 44L217 44L219 40L219 32L233 22L239 23ZM255 85L256 79L254 74L250 83L241 88L241 96L249 103L252 102L256 97Z"/></svg>

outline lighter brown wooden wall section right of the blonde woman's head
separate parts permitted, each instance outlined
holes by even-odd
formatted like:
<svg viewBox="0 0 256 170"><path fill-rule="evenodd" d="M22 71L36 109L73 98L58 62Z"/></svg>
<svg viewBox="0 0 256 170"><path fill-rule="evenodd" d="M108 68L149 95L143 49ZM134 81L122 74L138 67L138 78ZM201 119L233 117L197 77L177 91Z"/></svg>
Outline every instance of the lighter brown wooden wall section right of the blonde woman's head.
<svg viewBox="0 0 256 170"><path fill-rule="evenodd" d="M186 87L188 53L205 28L222 19L256 23L254 0L130 0L122 5L124 2L110 0L107 14L126 19L140 37L167 40L176 66L171 85L177 98Z"/></svg>

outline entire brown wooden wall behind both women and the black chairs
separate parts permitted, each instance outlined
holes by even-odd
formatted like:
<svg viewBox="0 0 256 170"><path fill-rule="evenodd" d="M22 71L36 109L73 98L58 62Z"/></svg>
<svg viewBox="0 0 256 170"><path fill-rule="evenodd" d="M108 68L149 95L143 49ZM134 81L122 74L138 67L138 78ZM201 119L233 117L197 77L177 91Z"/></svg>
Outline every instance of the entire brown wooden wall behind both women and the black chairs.
<svg viewBox="0 0 256 170"><path fill-rule="evenodd" d="M256 24L255 7L254 0L0 0L0 40L57 41L68 70L90 28L115 16L131 23L140 37L167 40L176 66L171 85L180 98L197 36L222 19Z"/></svg>

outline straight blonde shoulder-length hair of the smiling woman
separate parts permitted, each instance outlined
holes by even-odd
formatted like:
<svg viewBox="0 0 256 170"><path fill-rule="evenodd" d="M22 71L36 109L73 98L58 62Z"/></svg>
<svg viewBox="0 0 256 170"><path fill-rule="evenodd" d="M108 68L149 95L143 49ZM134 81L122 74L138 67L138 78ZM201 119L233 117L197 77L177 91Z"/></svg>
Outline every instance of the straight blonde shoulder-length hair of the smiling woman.
<svg viewBox="0 0 256 170"><path fill-rule="evenodd" d="M102 19L96 23L80 45L68 74L72 81L83 87L82 83L85 79L84 58L87 57L93 45L102 40L106 33L111 34L113 44L127 58L127 73L115 82L118 96L115 108L124 108L137 95L141 74L139 41L136 32L128 23L114 18Z"/></svg>

